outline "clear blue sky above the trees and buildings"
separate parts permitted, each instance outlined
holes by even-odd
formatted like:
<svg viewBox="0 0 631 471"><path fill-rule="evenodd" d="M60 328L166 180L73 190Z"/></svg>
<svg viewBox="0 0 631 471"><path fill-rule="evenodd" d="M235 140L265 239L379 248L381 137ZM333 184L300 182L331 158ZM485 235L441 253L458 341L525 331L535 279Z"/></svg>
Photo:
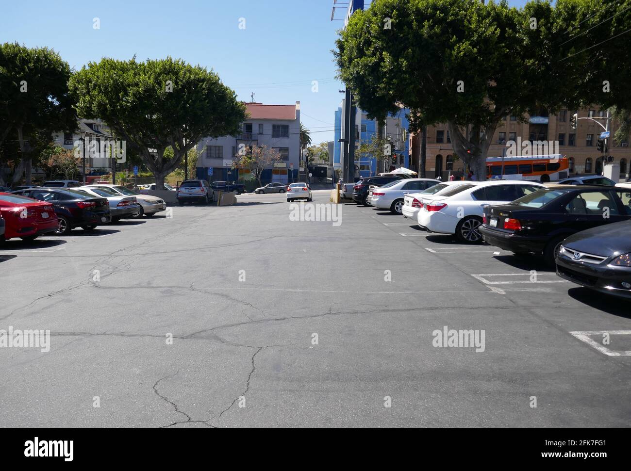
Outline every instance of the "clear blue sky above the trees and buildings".
<svg viewBox="0 0 631 471"><path fill-rule="evenodd" d="M511 0L510 4L523 4ZM214 69L240 100L301 102L314 143L333 139L343 95L331 49L343 21L333 0L3 1L0 42L56 50L80 69L101 57L170 55ZM343 18L338 9L336 17ZM100 19L100 30L93 18ZM245 18L245 29L239 19ZM312 81L319 90L312 92Z"/></svg>

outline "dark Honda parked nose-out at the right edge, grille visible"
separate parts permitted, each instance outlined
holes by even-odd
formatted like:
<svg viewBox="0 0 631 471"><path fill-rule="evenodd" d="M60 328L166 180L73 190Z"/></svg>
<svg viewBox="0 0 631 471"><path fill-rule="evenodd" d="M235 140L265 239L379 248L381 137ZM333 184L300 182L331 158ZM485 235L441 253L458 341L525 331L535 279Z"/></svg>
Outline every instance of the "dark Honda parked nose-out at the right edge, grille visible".
<svg viewBox="0 0 631 471"><path fill-rule="evenodd" d="M622 221L569 236L557 253L557 275L631 299L630 235L631 221Z"/></svg>

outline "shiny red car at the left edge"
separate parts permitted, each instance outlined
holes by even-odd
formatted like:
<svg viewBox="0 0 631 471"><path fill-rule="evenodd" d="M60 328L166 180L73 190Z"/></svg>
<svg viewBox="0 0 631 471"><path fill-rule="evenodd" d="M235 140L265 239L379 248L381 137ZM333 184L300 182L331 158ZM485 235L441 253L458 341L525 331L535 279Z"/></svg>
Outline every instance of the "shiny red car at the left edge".
<svg viewBox="0 0 631 471"><path fill-rule="evenodd" d="M55 210L50 203L25 196L0 193L0 214L4 218L4 239L34 240L57 229Z"/></svg>

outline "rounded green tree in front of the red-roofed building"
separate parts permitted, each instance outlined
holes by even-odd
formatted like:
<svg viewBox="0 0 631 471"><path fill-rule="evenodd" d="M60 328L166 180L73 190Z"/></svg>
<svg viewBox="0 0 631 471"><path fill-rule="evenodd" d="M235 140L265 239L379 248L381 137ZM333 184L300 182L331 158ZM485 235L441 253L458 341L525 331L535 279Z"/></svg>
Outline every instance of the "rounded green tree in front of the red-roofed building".
<svg viewBox="0 0 631 471"><path fill-rule="evenodd" d="M90 62L74 74L70 88L82 117L100 117L137 149L156 189L203 137L237 134L246 114L217 74L170 57ZM165 156L168 147L171 158Z"/></svg>

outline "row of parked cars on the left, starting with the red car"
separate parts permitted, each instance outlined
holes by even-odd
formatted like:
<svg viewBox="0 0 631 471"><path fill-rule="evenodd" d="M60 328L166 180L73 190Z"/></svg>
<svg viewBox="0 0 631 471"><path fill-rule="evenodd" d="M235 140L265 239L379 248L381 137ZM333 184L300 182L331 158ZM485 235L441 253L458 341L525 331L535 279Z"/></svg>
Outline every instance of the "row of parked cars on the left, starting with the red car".
<svg viewBox="0 0 631 471"><path fill-rule="evenodd" d="M11 193L0 192L0 243L11 238L34 240L48 233L67 235L76 228L93 231L103 224L153 216L166 209L162 199L121 185L29 185Z"/></svg>

